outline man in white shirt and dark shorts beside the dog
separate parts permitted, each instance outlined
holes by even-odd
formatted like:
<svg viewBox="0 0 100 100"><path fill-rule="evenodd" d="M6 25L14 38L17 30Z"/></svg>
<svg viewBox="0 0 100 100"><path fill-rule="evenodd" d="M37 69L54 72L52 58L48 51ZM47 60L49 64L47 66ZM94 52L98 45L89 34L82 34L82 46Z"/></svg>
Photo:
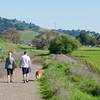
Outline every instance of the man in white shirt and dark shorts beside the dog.
<svg viewBox="0 0 100 100"><path fill-rule="evenodd" d="M24 55L21 56L20 67L22 68L23 82L29 82L31 60L26 51L24 52Z"/></svg>

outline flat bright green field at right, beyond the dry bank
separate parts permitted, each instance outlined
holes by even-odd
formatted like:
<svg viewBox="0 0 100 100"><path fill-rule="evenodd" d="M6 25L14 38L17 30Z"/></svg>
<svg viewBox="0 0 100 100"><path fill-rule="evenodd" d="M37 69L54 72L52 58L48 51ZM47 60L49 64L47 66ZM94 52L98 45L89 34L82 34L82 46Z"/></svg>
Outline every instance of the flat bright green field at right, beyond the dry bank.
<svg viewBox="0 0 100 100"><path fill-rule="evenodd" d="M74 51L72 56L85 61L94 71L100 73L100 48L83 47L77 51Z"/></svg>

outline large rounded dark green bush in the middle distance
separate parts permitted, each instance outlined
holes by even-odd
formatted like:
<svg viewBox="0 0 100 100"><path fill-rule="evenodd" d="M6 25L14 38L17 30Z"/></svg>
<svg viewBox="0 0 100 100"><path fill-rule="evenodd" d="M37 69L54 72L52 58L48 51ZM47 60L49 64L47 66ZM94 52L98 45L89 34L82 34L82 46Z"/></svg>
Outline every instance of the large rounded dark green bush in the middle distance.
<svg viewBox="0 0 100 100"><path fill-rule="evenodd" d="M50 53L67 54L79 47L80 43L73 37L68 35L56 36L51 40L49 50Z"/></svg>

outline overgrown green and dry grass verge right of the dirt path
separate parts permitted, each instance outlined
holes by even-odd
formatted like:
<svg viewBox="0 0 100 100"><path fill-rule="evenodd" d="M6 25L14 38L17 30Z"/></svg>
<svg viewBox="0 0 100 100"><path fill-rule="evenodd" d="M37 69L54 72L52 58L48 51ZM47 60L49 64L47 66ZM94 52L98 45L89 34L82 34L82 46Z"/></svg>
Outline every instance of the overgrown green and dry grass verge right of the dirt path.
<svg viewBox="0 0 100 100"><path fill-rule="evenodd" d="M40 80L43 99L99 100L100 85L96 81L68 73L69 68L69 64L63 62L45 61L44 74Z"/></svg>

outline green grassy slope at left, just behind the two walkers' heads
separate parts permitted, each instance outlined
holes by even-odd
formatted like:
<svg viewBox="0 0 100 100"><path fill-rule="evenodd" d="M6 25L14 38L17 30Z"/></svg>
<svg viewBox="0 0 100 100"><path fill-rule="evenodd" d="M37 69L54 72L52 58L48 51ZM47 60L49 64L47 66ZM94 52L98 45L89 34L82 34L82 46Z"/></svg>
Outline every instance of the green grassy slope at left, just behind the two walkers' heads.
<svg viewBox="0 0 100 100"><path fill-rule="evenodd" d="M23 52L24 50L30 50L30 46L27 45L22 45L22 44L13 44L9 42L0 42L0 62L3 62L5 60L5 57L7 56L8 51L12 51L16 57L18 56L17 54L21 51Z"/></svg>

